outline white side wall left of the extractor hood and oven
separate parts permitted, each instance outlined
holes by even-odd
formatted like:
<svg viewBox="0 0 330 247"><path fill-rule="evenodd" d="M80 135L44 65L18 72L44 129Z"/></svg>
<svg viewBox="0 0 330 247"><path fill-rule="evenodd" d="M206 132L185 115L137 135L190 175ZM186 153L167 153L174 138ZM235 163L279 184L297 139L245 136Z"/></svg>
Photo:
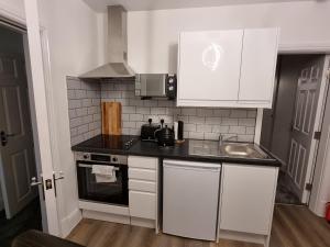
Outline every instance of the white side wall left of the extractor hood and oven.
<svg viewBox="0 0 330 247"><path fill-rule="evenodd" d="M80 0L38 0L42 24L48 33L51 80L46 88L53 96L51 121L55 170L63 170L59 181L59 216L65 236L79 220L77 179L70 150L66 76L78 76L99 65L98 15ZM57 184L58 184L57 183Z"/></svg>

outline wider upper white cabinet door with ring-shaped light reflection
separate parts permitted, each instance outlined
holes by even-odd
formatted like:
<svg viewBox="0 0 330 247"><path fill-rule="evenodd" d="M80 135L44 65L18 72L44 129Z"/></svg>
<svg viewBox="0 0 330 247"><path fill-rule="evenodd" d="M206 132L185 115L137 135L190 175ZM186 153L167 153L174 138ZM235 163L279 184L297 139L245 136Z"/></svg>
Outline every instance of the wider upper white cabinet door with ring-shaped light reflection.
<svg viewBox="0 0 330 247"><path fill-rule="evenodd" d="M178 105L218 106L237 101L242 30L183 32L179 36Z"/></svg>

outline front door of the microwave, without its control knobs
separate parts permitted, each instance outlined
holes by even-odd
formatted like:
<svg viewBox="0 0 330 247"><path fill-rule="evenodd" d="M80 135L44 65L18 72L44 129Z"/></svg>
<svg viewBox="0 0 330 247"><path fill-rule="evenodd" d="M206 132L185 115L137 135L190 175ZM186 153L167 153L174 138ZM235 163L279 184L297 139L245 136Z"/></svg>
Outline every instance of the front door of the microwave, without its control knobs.
<svg viewBox="0 0 330 247"><path fill-rule="evenodd" d="M165 97L165 75L141 75L141 96Z"/></svg>

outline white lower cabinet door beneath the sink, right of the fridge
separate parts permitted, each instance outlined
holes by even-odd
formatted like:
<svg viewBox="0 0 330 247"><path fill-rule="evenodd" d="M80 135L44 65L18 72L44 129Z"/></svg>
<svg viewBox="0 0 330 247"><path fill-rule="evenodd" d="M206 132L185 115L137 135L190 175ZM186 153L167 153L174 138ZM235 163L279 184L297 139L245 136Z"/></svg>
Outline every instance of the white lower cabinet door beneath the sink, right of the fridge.
<svg viewBox="0 0 330 247"><path fill-rule="evenodd" d="M223 165L220 229L270 234L277 171L275 167Z"/></svg>

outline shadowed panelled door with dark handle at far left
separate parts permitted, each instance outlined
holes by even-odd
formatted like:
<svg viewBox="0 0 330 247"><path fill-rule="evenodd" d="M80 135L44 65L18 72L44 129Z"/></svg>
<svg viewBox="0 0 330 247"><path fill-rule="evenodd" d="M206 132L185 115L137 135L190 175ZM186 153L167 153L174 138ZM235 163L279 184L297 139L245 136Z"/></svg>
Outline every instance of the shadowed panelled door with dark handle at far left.
<svg viewBox="0 0 330 247"><path fill-rule="evenodd" d="M23 55L0 54L0 175L7 218L36 195L28 82Z"/></svg>

